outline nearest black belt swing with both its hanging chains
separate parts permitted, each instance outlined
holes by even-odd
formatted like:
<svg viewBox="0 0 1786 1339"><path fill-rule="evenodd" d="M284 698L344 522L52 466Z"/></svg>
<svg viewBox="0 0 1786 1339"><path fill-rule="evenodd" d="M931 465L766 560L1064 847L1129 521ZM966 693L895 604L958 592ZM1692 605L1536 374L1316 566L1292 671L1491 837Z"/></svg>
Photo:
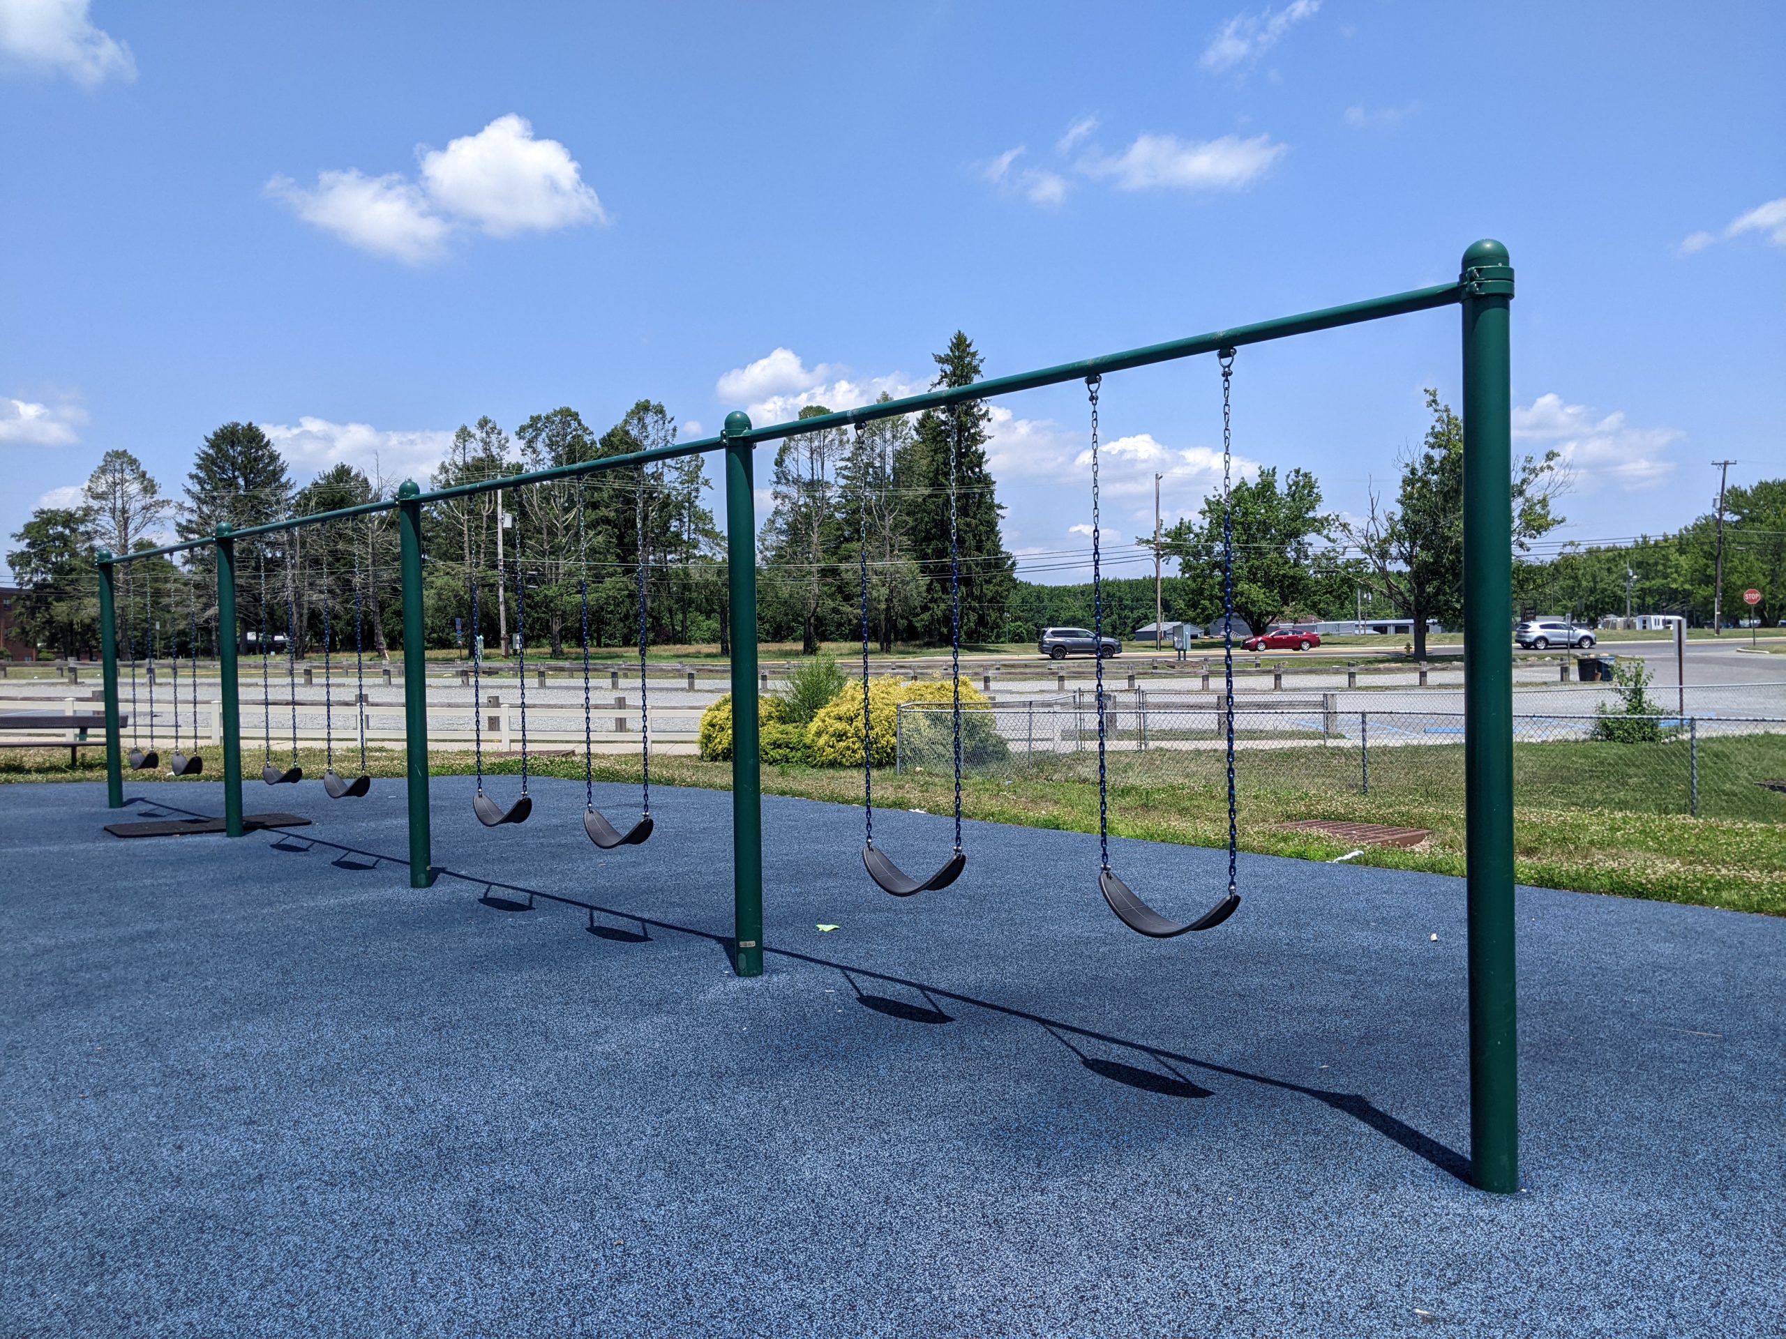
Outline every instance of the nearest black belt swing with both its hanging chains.
<svg viewBox="0 0 1786 1339"><path fill-rule="evenodd" d="M1148 939L1175 939L1181 934L1213 930L1239 909L1239 893L1234 889L1234 512L1229 505L1229 461L1232 455L1229 441L1229 375L1234 362L1234 350L1222 350L1222 636L1227 661L1227 775L1229 775L1229 886L1214 907L1193 921L1170 921L1154 911L1129 887L1114 869L1109 853L1109 777L1106 771L1106 709L1104 709L1104 570L1098 552L1098 384L1102 378L1093 373L1086 377L1086 393L1091 398L1091 659L1097 662L1097 714L1098 714L1098 893L1106 905L1116 912L1116 919L1136 934Z"/></svg>

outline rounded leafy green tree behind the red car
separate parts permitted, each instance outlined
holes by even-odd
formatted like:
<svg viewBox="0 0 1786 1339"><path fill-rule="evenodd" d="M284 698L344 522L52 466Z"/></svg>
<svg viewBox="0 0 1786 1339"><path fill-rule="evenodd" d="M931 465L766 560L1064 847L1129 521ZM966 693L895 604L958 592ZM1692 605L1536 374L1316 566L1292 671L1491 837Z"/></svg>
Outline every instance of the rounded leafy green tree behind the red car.
<svg viewBox="0 0 1786 1339"><path fill-rule="evenodd" d="M1284 618L1302 618L1325 603L1323 571L1338 561L1318 548L1334 527L1322 512L1322 486L1307 470L1277 482L1275 466L1241 478L1229 491L1234 518L1234 612L1256 632ZM1152 543L1148 536L1147 543ZM1195 616L1220 628L1222 620L1222 496L1204 502L1161 534L1164 555L1179 561L1191 589ZM1152 621L1152 598L1147 620Z"/></svg>

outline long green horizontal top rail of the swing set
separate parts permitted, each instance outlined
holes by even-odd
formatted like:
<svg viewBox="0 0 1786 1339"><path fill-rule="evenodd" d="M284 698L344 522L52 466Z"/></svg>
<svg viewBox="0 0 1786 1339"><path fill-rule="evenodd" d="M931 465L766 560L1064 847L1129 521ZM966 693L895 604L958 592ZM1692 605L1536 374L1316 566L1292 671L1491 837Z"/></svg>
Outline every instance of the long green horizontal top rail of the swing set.
<svg viewBox="0 0 1786 1339"><path fill-rule="evenodd" d="M600 473L604 470L625 470L629 466L645 466L657 461L673 461L684 455L702 455L705 452L716 452L725 448L727 441L757 445L764 441L779 441L782 437L798 437L807 432L825 432L827 428L852 427L855 423L873 423L882 418L898 418L902 414L918 414L925 409L947 409L948 405L963 403L964 400L991 400L1000 395L1013 395L1016 391L1034 391L1043 386L1059 386L1061 382L1084 380L1086 377L1102 377L1111 371L1127 371L1129 368L1145 368L1154 362L1172 362L1173 359L1195 357L1198 353L1214 353L1223 348L1239 348L1241 345L1263 345L1270 339L1288 339L1291 336L1311 334L1314 330L1334 330L1343 325L1359 325L1363 321L1379 321L1386 316L1406 316L1416 311L1431 311L1434 307L1448 307L1459 304L1468 296L1479 296L1484 291L1502 291L1511 289L1511 270L1502 277L1500 270L1506 266L1481 266L1466 270L1463 279L1450 284L1434 284L1432 287L1416 287L1409 293L1395 293L1388 298L1368 298L1366 302L1350 302L1343 307L1323 307L1320 311L1302 312L1298 316L1279 316L1272 321L1256 321L1252 325L1236 325L1227 330L1211 330L1209 334L1189 336L1186 339L1168 339L1163 345L1147 345L1145 348L1131 348L1122 353L1104 353L1102 357L1082 359L1079 362L1061 362L1052 368L1041 368L1038 371L1020 371L1009 377L991 377L988 380L972 382L968 386L948 386L936 391L925 391L923 395L907 395L900 400L884 400L880 403L861 405L859 409L841 409L834 414L816 414L813 418L789 420L786 423L772 423L761 428L747 428L743 432L722 434L718 437L698 437L695 441L680 441L673 446L657 446L648 452L629 452L625 455L604 455L595 461L577 461L573 464L561 464L550 470L532 470L520 475L502 475L500 478L482 478L475 484L457 484L454 487L436 489L432 493L418 493L416 502L427 505L432 502L450 502L452 498L468 498L479 493L495 493L498 489L509 487L527 487L530 484L550 484L563 478L579 478L582 475ZM748 421L748 420L745 420ZM246 525L239 530L223 530L223 534L232 534L236 539L252 539L255 536L279 534L282 530L296 530L305 525L327 525L330 521L343 521L352 516L371 516L375 512L396 511L398 500L386 498L382 502L363 502L355 507L341 507L338 511L314 512L311 516L291 516L284 521L268 521L266 525ZM164 545L161 548L145 548L138 553L113 553L104 555L98 562L104 566L136 562L139 559L163 557L168 553L180 553L193 548L204 548L205 545L216 543L211 536L204 539L188 539L179 545Z"/></svg>

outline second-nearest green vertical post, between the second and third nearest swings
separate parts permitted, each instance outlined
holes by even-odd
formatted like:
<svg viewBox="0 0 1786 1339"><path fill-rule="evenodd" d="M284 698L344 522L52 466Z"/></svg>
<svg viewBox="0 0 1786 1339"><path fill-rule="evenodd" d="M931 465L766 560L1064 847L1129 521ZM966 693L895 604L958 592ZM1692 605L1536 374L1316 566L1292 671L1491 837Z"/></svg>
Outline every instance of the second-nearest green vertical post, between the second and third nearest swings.
<svg viewBox="0 0 1786 1339"><path fill-rule="evenodd" d="M763 975L763 755L757 737L757 503L747 414L725 416L725 566L732 637L732 969Z"/></svg>

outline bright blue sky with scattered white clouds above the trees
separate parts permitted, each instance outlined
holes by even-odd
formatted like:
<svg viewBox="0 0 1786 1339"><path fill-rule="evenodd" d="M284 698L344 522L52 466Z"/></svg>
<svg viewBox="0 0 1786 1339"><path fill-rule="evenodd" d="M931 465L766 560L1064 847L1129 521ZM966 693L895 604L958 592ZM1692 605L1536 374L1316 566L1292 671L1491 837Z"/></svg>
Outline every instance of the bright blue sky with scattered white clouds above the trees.
<svg viewBox="0 0 1786 1339"><path fill-rule="evenodd" d="M713 432L920 387L956 329L1016 371L1441 282L1479 236L1563 537L1679 527L1713 459L1786 473L1786 9L1479 14L0 0L0 532L114 446L177 493L227 420L300 478L420 477L479 414ZM1456 402L1454 311L1245 350L1236 448L1361 514L1427 384ZM1116 536L1156 470L1195 511L1213 362L1102 411ZM1082 550L1082 393L995 428L1009 546Z"/></svg>

